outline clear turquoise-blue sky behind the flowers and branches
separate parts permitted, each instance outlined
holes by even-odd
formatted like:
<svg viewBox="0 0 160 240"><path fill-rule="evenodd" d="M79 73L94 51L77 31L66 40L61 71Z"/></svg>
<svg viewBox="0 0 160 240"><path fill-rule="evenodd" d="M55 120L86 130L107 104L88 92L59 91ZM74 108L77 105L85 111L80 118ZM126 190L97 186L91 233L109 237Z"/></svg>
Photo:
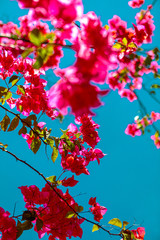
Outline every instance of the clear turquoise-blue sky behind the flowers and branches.
<svg viewBox="0 0 160 240"><path fill-rule="evenodd" d="M85 13L90 10L95 11L101 17L104 25L113 15L119 15L128 22L129 27L135 22L136 10L128 6L127 0L84 0L83 3ZM145 6L150 3L151 1L147 0ZM159 7L160 3L158 2L152 11L156 24L153 47L160 45ZM4 22L13 21L17 23L17 18L26 14L26 12L26 10L18 8L16 1L1 0L0 19ZM67 54L69 54L70 59ZM61 67L66 67L73 62L69 50L65 52L65 55ZM50 75L49 79L49 85L52 85L54 76ZM147 83L147 78L144 78L144 83ZM143 91L140 97L149 113L153 109L159 111L159 106ZM103 102L104 106L96 110L94 121L101 126L99 133L102 140L98 147L107 155L99 166L96 162L93 162L89 167L90 176L78 177L79 184L70 192L72 195L82 194L76 197L76 200L79 204L84 205L86 210L88 199L91 196L97 196L97 201L108 208L103 220L104 225L107 225L111 218L118 217L122 221L144 226L146 228L145 240L159 240L160 150L156 149L148 133L135 138L124 134L128 123L133 122L134 117L139 114L137 102L130 103L126 99L121 99L117 92L112 92L104 97ZM0 114L4 113L0 112ZM51 122L46 118L44 120L47 121L49 127L53 128L54 134L58 136L60 134L58 129L60 127L66 129L69 123L74 121L74 118L73 116L67 116L63 124L57 121ZM61 170L60 160L53 165L46 158L43 147L41 147L41 151L34 155L16 131L15 133L1 132L0 142L7 143L11 152L33 164L45 176L59 175ZM17 187L31 184L42 187L44 182L30 169L2 152L0 152L0 159L0 206L12 213L16 202L16 214L18 215L24 209L24 203ZM92 219L91 215L88 215L88 217ZM83 240L110 238L103 231L92 233L92 226L89 224L83 225ZM137 228L137 226L134 228ZM38 236L33 231L27 231L19 239L27 240L28 238L36 240ZM43 239L45 240L47 237Z"/></svg>

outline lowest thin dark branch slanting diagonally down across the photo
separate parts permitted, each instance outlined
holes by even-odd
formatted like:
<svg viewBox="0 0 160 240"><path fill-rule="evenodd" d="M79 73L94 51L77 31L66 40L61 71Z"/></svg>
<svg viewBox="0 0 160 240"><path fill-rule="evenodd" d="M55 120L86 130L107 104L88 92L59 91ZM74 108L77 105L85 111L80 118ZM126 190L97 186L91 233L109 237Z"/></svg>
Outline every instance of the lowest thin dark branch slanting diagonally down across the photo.
<svg viewBox="0 0 160 240"><path fill-rule="evenodd" d="M94 222L94 221L91 221L83 216L81 216L78 212L75 211L75 209L70 206L70 204L67 202L66 199L64 199L57 191L56 189L52 186L52 184L46 180L46 178L44 177L44 175L42 173L40 173L36 168L34 168L33 166L31 166L29 163L27 163L26 161L18 158L15 154L13 154L12 152L8 151L7 149L3 148L3 147L0 147L0 150L8 153L9 155L11 155L12 157L14 157L17 161L25 164L27 167L29 167L30 169L32 169L34 172L36 172L41 178L43 178L43 180L52 188L52 190L55 192L55 194L63 201L66 203L66 205L81 219L85 220L86 222L88 223L91 223L91 224L95 224L97 225L100 229L102 229L103 231L107 232L109 235L112 235L112 236L120 236L122 237L122 234L119 233L119 234L116 234L116 233L111 233L109 230L105 229L104 227L102 227L101 225L99 225L98 223Z"/></svg>

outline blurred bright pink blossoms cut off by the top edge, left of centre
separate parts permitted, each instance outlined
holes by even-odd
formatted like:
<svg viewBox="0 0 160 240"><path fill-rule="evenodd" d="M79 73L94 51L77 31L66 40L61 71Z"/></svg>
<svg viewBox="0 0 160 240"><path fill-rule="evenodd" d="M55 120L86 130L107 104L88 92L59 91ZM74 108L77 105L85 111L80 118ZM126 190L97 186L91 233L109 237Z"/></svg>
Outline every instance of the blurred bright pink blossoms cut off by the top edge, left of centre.
<svg viewBox="0 0 160 240"><path fill-rule="evenodd" d="M83 14L81 0L18 0L20 8L30 8L32 19L53 19L54 25L71 23Z"/></svg>

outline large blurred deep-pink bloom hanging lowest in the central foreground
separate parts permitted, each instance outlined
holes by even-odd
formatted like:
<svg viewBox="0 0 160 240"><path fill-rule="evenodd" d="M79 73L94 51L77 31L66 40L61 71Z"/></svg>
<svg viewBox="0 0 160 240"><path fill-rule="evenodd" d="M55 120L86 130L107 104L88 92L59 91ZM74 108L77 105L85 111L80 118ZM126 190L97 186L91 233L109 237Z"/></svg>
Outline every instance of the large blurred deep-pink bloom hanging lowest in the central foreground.
<svg viewBox="0 0 160 240"><path fill-rule="evenodd" d="M63 115L71 107L75 116L83 114L93 115L91 108L102 105L99 96L106 95L109 90L100 90L89 83L74 83L60 79L48 92L48 103L51 108L58 108Z"/></svg>

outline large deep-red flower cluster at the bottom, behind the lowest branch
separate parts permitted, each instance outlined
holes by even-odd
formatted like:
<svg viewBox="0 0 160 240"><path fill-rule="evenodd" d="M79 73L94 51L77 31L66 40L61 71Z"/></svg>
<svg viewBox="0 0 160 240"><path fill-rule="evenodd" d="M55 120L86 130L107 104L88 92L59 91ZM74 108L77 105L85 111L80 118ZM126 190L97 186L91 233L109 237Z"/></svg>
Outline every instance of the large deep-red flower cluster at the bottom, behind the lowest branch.
<svg viewBox="0 0 160 240"><path fill-rule="evenodd" d="M28 211L34 211L33 223L40 221L43 223L40 229L37 229L38 224L35 224L34 230L38 233L39 238L42 238L47 233L50 240L58 238L66 240L66 238L82 237L81 223L83 219L77 216L67 218L67 213L71 211L68 203L76 211L78 204L69 194L68 190L63 193L60 189L53 189L46 184L40 191L36 186L19 187L23 194L25 207ZM64 200L62 200L62 198ZM58 217L57 217L58 216ZM39 219L39 220L38 220ZM8 239L9 240L9 239Z"/></svg>

